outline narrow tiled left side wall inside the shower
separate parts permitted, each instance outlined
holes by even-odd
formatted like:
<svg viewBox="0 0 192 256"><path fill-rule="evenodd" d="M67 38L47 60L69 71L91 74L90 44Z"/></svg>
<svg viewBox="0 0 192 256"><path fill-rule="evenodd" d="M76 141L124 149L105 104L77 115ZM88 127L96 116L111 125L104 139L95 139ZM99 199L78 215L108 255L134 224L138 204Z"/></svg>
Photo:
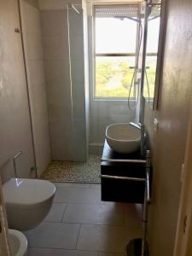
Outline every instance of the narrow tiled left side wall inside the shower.
<svg viewBox="0 0 192 256"><path fill-rule="evenodd" d="M44 52L38 1L21 0L26 72L32 112L32 130L38 176L50 161L49 122L44 75Z"/></svg>

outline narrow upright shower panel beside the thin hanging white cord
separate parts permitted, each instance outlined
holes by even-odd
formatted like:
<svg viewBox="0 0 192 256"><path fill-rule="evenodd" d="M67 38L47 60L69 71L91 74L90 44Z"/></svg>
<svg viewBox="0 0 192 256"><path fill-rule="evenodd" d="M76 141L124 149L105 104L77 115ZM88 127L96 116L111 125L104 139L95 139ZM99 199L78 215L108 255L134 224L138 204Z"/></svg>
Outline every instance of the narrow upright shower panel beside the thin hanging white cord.
<svg viewBox="0 0 192 256"><path fill-rule="evenodd" d="M73 8L74 7L74 8ZM69 35L70 84L73 108L73 157L87 159L86 114L84 86L84 26L83 9L74 4L67 10Z"/></svg>

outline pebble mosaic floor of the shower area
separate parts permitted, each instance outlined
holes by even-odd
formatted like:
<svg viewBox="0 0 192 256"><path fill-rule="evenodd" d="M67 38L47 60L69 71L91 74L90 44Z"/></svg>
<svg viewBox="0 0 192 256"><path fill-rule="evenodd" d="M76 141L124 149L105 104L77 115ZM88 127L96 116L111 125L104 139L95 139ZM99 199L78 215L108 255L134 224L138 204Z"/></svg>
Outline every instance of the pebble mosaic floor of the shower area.
<svg viewBox="0 0 192 256"><path fill-rule="evenodd" d="M53 182L101 183L100 156L90 155L87 162L51 161L42 178Z"/></svg>

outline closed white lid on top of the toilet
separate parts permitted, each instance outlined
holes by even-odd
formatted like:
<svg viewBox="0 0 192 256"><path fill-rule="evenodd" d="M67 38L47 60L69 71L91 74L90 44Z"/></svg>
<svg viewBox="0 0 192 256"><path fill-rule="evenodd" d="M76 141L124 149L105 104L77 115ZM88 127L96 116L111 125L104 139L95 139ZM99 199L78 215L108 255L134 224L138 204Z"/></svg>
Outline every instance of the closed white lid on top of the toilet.
<svg viewBox="0 0 192 256"><path fill-rule="evenodd" d="M32 206L55 195L55 185L49 181L27 178L11 178L3 183L6 204Z"/></svg>

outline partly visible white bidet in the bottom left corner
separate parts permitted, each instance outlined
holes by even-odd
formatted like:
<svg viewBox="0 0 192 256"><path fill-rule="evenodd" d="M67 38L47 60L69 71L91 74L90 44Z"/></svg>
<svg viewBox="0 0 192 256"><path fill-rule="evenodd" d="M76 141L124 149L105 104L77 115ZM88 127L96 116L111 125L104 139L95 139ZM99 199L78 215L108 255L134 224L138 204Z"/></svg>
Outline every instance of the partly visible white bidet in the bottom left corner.
<svg viewBox="0 0 192 256"><path fill-rule="evenodd" d="M27 255L27 240L20 231L9 230L9 246L11 256Z"/></svg>

